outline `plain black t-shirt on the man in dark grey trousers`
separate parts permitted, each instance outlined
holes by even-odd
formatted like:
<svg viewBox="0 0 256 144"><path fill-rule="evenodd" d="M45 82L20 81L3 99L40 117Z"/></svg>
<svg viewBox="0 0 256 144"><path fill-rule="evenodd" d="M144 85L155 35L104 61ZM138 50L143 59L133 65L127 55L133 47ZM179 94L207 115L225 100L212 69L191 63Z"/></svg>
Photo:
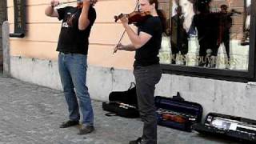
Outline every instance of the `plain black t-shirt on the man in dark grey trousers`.
<svg viewBox="0 0 256 144"><path fill-rule="evenodd" d="M158 53L162 42L160 18L150 16L145 22L138 24L138 34L141 31L150 34L152 37L145 45L136 50L134 67L159 64Z"/></svg>

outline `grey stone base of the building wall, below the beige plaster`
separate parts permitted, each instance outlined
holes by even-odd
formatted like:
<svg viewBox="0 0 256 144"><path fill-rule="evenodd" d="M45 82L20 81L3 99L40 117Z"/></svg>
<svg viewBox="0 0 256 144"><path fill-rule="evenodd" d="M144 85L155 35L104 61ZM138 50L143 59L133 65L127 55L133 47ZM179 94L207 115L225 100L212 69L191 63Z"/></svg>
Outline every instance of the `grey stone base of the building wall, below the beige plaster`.
<svg viewBox="0 0 256 144"><path fill-rule="evenodd" d="M13 56L10 65L14 78L62 90L56 61ZM93 99L108 101L111 91L127 90L130 82L134 82L132 70L93 65L88 68L87 86ZM187 101L200 103L203 116L217 112L256 119L255 82L227 82L162 74L155 95L172 97L178 91Z"/></svg>

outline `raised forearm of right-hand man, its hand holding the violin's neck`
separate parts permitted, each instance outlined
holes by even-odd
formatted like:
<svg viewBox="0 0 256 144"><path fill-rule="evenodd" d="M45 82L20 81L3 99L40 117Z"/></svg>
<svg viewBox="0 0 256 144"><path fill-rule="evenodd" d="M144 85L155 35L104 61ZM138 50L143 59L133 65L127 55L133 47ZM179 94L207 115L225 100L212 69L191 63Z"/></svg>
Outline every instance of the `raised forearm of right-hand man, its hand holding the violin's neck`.
<svg viewBox="0 0 256 144"><path fill-rule="evenodd" d="M130 42L133 44L135 49L138 49L142 46L141 39L137 34L134 33L134 30L126 23L123 25L126 29L126 33L128 34L128 37L130 38Z"/></svg>

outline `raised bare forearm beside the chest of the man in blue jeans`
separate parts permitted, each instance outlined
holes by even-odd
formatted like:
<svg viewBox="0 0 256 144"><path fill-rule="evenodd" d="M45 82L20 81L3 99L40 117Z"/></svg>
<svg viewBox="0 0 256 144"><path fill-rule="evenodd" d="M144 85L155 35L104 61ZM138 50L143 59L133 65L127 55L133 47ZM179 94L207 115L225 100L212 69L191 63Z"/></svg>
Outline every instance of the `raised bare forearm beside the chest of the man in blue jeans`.
<svg viewBox="0 0 256 144"><path fill-rule="evenodd" d="M89 23L90 23L88 19L89 8L90 8L90 2L86 2L86 4L84 4L82 7L82 13L78 21L79 30L86 30L86 27L89 26Z"/></svg>

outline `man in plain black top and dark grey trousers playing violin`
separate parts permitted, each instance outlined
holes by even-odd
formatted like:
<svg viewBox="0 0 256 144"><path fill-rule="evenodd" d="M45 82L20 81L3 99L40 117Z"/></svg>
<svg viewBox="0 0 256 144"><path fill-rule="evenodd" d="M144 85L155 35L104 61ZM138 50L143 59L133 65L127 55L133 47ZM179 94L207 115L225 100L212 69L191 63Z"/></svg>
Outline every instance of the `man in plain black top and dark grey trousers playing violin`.
<svg viewBox="0 0 256 144"><path fill-rule="evenodd" d="M134 62L134 77L138 95L138 110L144 122L141 138L130 141L130 144L156 144L157 119L154 106L155 85L162 76L159 65L158 52L161 48L162 31L164 31L164 14L158 10L158 0L139 0L139 10L150 12L144 22L138 22L138 31L134 32L128 25L128 18L120 18L126 33L130 38L130 45L118 44L116 50L136 51Z"/></svg>

